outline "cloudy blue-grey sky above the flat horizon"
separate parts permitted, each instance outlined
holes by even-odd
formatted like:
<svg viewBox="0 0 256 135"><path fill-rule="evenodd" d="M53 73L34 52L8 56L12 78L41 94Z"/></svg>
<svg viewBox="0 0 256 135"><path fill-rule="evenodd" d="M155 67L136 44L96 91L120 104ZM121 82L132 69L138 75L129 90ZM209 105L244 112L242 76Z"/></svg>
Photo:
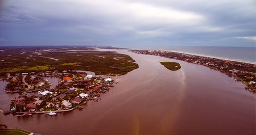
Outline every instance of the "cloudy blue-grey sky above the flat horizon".
<svg viewBox="0 0 256 135"><path fill-rule="evenodd" d="M254 0L1 0L0 45L255 47Z"/></svg>

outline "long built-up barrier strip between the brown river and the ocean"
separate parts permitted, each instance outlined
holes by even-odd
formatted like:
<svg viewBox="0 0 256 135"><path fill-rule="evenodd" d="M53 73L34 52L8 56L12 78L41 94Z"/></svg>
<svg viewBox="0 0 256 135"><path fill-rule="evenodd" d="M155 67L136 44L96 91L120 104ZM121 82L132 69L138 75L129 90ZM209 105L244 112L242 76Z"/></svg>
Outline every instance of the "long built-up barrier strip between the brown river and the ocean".
<svg viewBox="0 0 256 135"><path fill-rule="evenodd" d="M173 52L170 50L131 50L135 53L144 55L154 55L170 59L185 61L209 67L227 74L229 77L234 77L235 81L243 82L245 89L251 92L256 92L256 65L245 62L237 62L230 60L222 60L210 57L188 55L185 53Z"/></svg>

